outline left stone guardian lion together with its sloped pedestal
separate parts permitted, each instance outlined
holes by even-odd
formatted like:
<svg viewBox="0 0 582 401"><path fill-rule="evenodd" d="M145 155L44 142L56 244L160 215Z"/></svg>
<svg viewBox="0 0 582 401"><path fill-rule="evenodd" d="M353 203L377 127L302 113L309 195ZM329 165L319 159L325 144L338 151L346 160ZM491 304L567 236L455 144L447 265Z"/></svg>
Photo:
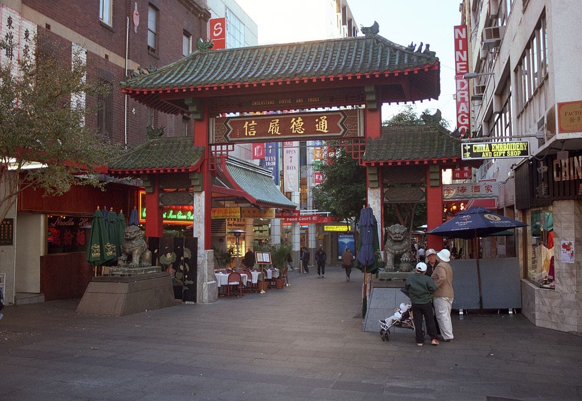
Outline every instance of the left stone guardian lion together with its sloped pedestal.
<svg viewBox="0 0 582 401"><path fill-rule="evenodd" d="M109 276L91 279L77 313L123 316L176 304L172 277L151 266L151 252L139 227L125 228L122 256Z"/></svg>

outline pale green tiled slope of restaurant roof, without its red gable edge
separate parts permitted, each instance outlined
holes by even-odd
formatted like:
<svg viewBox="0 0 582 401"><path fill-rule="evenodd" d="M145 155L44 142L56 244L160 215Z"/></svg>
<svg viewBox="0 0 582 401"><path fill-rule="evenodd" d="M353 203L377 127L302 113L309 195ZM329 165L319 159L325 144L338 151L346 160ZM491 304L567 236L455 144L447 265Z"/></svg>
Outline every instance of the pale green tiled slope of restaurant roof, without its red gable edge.
<svg viewBox="0 0 582 401"><path fill-rule="evenodd" d="M235 184L254 199L253 203L286 209L297 207L275 186L271 170L233 157L226 159L225 166Z"/></svg>

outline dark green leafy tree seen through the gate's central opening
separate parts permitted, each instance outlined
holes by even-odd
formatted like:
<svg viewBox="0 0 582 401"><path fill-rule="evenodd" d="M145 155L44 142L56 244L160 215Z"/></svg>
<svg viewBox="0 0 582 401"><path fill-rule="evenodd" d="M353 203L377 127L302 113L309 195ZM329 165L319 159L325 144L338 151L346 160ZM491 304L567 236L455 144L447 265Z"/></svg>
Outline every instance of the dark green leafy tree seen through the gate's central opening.
<svg viewBox="0 0 582 401"><path fill-rule="evenodd" d="M329 142L328 146L333 146ZM331 162L315 166L324 181L313 188L313 199L318 209L327 210L346 221L355 221L366 203L365 167L359 166L352 155L338 148ZM346 226L349 231L349 226Z"/></svg>

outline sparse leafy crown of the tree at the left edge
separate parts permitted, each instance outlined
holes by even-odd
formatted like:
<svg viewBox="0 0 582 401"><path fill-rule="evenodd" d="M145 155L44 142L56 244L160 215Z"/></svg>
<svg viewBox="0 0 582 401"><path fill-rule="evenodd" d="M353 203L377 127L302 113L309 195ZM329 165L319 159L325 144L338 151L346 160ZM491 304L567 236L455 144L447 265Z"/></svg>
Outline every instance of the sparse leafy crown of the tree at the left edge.
<svg viewBox="0 0 582 401"><path fill-rule="evenodd" d="M80 54L63 62L58 47L35 41L34 58L0 65L0 221L24 189L49 196L72 185L102 186L96 171L119 149L85 124L96 109L74 101L97 99L111 87L88 81Z"/></svg>

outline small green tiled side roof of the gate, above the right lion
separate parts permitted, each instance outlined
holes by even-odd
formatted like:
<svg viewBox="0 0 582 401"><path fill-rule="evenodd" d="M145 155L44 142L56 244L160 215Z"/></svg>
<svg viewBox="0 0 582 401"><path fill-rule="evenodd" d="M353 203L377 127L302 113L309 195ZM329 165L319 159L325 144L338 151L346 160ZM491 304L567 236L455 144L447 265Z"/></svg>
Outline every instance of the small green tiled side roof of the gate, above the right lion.
<svg viewBox="0 0 582 401"><path fill-rule="evenodd" d="M382 127L382 135L368 139L362 156L364 164L427 164L435 160L456 163L461 159L461 141L436 124ZM414 163L408 163L414 162Z"/></svg>

